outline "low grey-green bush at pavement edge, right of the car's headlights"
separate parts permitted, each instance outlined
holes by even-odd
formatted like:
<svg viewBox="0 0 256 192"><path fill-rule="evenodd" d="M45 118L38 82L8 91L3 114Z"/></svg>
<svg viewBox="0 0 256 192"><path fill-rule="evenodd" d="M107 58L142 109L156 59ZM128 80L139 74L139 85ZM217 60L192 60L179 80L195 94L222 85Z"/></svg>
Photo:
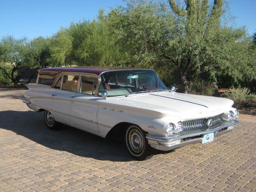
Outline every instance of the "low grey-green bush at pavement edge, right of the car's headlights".
<svg viewBox="0 0 256 192"><path fill-rule="evenodd" d="M237 108L256 106L256 95L249 94L249 89L247 88L234 89L231 92L224 93L223 96L232 99Z"/></svg>

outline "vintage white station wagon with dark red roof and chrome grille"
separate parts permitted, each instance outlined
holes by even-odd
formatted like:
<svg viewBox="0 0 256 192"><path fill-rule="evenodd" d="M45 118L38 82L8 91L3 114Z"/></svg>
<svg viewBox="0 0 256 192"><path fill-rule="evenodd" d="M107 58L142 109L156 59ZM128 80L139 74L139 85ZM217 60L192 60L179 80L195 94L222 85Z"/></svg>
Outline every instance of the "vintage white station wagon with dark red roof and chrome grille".
<svg viewBox="0 0 256 192"><path fill-rule="evenodd" d="M65 123L105 138L123 138L139 160L152 147L169 151L207 143L238 124L233 101L167 89L154 70L40 69L23 102L44 111L50 129Z"/></svg>

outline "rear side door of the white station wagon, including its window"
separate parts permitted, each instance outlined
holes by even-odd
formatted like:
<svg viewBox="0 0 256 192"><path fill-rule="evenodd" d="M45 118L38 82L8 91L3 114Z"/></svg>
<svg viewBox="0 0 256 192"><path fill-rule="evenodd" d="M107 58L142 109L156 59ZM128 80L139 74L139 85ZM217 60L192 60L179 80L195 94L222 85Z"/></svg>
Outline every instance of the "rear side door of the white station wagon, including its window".
<svg viewBox="0 0 256 192"><path fill-rule="evenodd" d="M78 91L79 75L63 74L55 85L55 93L52 94L52 113L56 121L69 124L71 98Z"/></svg>

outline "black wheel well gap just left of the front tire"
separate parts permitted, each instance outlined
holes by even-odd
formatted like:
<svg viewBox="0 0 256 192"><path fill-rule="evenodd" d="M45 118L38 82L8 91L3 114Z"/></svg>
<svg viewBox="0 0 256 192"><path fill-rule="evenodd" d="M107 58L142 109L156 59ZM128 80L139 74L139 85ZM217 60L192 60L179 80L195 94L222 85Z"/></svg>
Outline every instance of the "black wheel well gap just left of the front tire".
<svg viewBox="0 0 256 192"><path fill-rule="evenodd" d="M115 139L115 140L118 140L118 141L123 141L124 140L125 129L130 124L132 124L132 123L121 122L121 123L116 124L110 130L110 132L106 135L106 138Z"/></svg>

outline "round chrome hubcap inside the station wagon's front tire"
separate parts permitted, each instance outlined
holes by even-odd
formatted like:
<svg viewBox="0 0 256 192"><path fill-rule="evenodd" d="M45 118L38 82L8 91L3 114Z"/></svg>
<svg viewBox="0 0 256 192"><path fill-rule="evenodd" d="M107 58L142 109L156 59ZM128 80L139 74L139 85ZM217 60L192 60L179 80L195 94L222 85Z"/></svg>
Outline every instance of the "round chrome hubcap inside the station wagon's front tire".
<svg viewBox="0 0 256 192"><path fill-rule="evenodd" d="M129 134L129 142L132 150L136 153L143 151L144 141L139 131L133 130Z"/></svg>

